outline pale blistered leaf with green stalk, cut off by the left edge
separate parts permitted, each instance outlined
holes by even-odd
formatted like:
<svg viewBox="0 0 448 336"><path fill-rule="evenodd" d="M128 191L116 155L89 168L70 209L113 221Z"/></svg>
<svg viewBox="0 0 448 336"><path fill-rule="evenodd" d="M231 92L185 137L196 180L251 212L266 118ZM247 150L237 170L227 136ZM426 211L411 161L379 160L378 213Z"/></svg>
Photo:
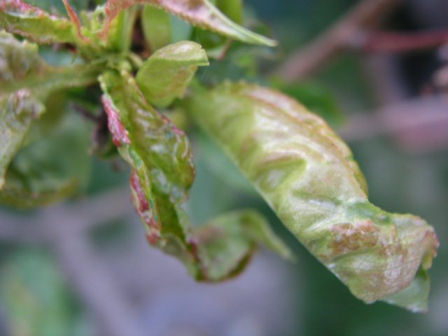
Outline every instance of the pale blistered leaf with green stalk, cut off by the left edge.
<svg viewBox="0 0 448 336"><path fill-rule="evenodd" d="M96 71L96 66L48 66L38 56L37 45L0 31L0 189L31 122L45 111L42 102L48 94L91 83Z"/></svg>

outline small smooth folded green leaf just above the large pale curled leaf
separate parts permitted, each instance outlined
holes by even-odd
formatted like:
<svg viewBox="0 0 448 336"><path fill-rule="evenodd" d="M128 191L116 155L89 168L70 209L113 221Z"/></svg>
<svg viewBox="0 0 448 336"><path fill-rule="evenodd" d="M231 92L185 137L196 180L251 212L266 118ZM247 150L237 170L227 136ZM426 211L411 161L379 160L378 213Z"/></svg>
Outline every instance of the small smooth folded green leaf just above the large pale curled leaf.
<svg viewBox="0 0 448 336"><path fill-rule="evenodd" d="M157 50L141 66L136 80L148 102L166 107L183 97L197 67L207 65L209 61L201 45L183 41Z"/></svg>

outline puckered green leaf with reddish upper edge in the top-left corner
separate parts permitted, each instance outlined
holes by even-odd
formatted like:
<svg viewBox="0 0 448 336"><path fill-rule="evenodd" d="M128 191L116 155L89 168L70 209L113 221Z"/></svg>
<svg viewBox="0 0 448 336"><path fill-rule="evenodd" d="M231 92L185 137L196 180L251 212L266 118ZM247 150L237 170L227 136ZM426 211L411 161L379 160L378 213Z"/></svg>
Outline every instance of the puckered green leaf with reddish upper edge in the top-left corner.
<svg viewBox="0 0 448 336"><path fill-rule="evenodd" d="M0 28L38 43L76 44L81 37L75 23L50 15L22 0L0 2Z"/></svg>

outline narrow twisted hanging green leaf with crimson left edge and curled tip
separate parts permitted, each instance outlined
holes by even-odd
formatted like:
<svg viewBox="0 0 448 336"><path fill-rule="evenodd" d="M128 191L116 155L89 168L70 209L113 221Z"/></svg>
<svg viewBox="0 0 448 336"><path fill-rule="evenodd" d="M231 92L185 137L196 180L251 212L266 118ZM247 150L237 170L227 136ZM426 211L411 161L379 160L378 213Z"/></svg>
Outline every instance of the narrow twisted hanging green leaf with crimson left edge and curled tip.
<svg viewBox="0 0 448 336"><path fill-rule="evenodd" d="M193 228L182 208L195 178L186 135L146 102L127 71L108 71L100 82L109 130L118 151L132 166L132 200L150 244L179 258L200 281L239 274L258 244L289 255L253 211Z"/></svg>

